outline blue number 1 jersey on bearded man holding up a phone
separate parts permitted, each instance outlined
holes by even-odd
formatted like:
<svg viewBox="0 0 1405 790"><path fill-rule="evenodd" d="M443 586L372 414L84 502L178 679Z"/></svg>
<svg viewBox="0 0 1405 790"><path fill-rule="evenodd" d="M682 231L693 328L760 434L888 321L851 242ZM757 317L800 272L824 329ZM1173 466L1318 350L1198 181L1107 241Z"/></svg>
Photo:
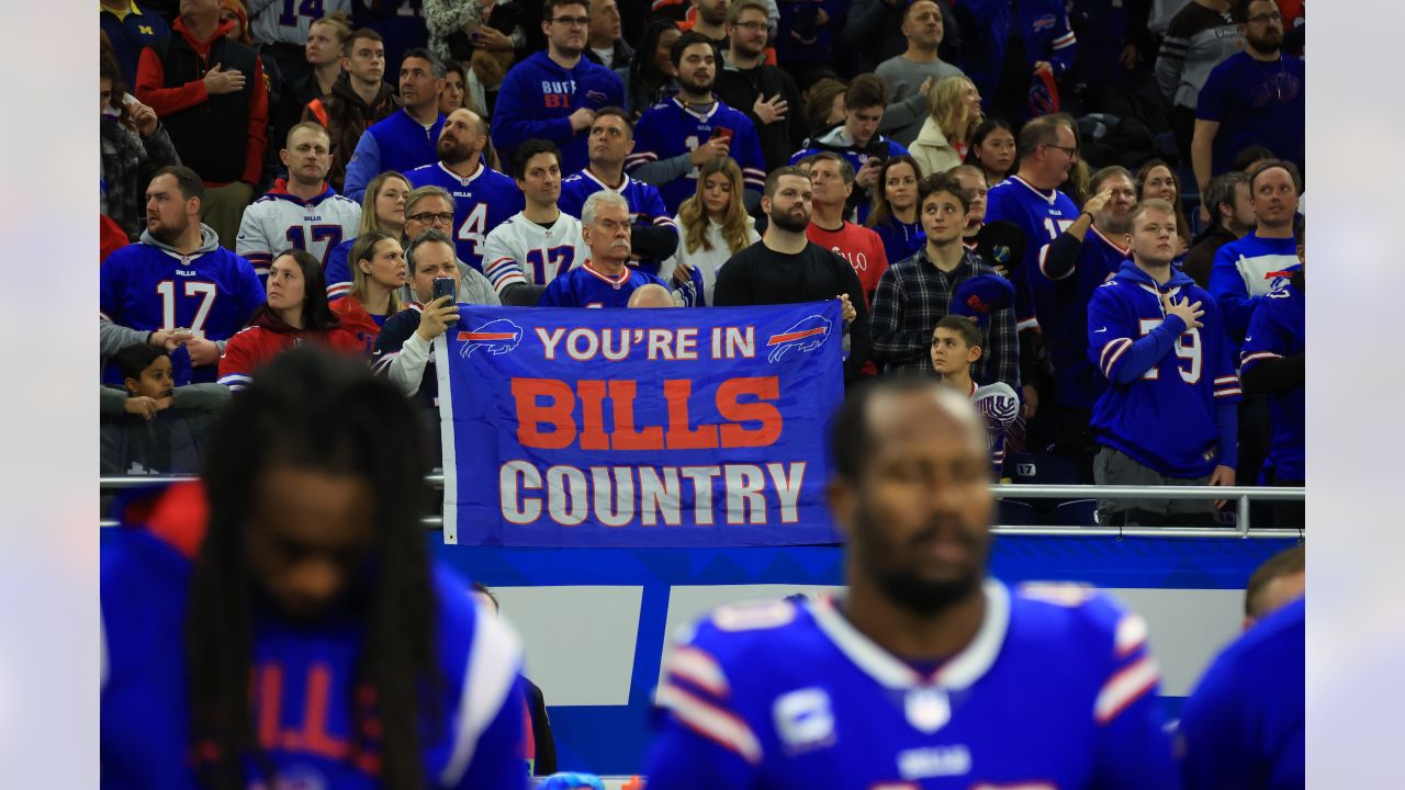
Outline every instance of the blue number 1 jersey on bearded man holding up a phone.
<svg viewBox="0 0 1405 790"><path fill-rule="evenodd" d="M711 139L717 129L731 129L729 156L742 167L742 184L747 190L760 193L766 186L766 159L762 156L762 141L756 136L756 127L750 118L721 100L702 114L688 110L677 96L651 107L634 127L634 153L624 160L624 166L627 170L634 170L649 162L693 153L697 146ZM698 170L693 167L687 176L659 187L669 216L679 212L683 201L697 194L697 180Z"/></svg>

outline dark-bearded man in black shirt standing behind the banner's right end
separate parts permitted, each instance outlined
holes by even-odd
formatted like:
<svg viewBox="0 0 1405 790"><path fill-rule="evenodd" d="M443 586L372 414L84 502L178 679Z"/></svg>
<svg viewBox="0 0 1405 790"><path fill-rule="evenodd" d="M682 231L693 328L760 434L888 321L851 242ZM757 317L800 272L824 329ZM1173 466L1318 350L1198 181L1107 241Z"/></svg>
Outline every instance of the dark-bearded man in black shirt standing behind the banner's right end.
<svg viewBox="0 0 1405 790"><path fill-rule="evenodd" d="M712 304L785 305L840 299L844 319L844 381L858 375L868 358L868 302L853 267L805 238L815 190L794 166L777 167L766 179L762 211L770 222L762 240L731 257L717 274Z"/></svg>

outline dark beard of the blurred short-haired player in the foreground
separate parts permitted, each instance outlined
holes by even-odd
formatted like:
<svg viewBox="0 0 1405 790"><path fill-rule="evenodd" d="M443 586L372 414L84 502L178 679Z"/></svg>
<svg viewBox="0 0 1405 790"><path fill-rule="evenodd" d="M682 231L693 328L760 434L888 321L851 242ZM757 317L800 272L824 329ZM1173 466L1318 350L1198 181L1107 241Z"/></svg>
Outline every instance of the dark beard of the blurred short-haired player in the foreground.
<svg viewBox="0 0 1405 790"><path fill-rule="evenodd" d="M964 530L953 517L934 517L922 531L898 545L884 537L877 519L863 510L858 513L858 530L864 536L865 551L860 557L864 571L878 583L884 596L899 607L922 617L944 611L981 590L985 559L989 554L989 540L981 541ZM916 566L905 562L913 550L939 536L951 536L969 552L971 562L957 566L941 578L922 575Z"/></svg>

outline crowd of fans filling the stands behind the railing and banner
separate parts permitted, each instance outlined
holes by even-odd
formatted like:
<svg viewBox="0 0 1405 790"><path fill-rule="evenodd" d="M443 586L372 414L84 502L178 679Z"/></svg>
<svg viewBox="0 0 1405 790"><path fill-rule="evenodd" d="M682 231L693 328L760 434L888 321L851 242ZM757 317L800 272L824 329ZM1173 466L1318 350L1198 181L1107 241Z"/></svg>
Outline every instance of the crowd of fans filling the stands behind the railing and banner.
<svg viewBox="0 0 1405 790"><path fill-rule="evenodd" d="M1301 3L176 6L101 0L107 471L302 343L433 413L454 302L839 298L998 474L1304 481Z"/></svg>

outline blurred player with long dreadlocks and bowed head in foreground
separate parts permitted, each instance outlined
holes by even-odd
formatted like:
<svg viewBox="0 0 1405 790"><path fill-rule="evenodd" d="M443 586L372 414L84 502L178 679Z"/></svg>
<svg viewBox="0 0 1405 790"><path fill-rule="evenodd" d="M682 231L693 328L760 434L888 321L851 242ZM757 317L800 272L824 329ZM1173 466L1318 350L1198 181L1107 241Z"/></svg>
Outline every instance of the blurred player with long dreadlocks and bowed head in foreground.
<svg viewBox="0 0 1405 790"><path fill-rule="evenodd" d="M525 786L518 640L426 554L420 433L298 349L103 545L103 787Z"/></svg>

